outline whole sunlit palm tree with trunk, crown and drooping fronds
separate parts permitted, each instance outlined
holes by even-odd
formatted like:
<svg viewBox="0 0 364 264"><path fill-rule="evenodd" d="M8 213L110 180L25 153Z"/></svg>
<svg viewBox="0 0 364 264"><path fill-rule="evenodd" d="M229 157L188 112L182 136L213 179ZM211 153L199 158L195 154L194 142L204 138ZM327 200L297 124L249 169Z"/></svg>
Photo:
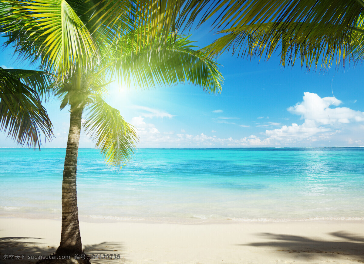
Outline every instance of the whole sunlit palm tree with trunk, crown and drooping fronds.
<svg viewBox="0 0 364 264"><path fill-rule="evenodd" d="M41 66L54 73L52 87L62 98L60 108L70 106L58 255L82 253L76 195L81 126L106 162L116 167L126 164L138 140L120 112L103 100L110 81L116 78L130 84L133 80L142 88L187 82L212 94L221 91L217 63L194 51L188 36L163 26L171 23L163 15L155 15L150 23L150 16L145 15L150 12L149 1L144 9L136 3L24 0L3 4L11 8L0 20L7 43L14 44L24 57L40 60ZM162 20L164 24L158 24ZM86 121L82 123L82 119Z"/></svg>

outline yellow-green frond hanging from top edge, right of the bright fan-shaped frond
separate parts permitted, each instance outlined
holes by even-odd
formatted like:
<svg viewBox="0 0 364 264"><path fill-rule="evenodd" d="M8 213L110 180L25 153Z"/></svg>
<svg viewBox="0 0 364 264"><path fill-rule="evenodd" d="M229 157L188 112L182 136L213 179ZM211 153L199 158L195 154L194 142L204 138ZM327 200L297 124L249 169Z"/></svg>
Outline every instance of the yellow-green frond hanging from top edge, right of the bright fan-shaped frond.
<svg viewBox="0 0 364 264"><path fill-rule="evenodd" d="M92 3L92 4L91 4ZM95 34L95 39L103 35L108 43L123 41L124 48L128 40L122 36L132 32L134 52L138 53L146 45L166 44L170 41L170 32L177 33L180 24L179 12L185 0L129 0L129 1L85 1L88 7L88 25Z"/></svg>

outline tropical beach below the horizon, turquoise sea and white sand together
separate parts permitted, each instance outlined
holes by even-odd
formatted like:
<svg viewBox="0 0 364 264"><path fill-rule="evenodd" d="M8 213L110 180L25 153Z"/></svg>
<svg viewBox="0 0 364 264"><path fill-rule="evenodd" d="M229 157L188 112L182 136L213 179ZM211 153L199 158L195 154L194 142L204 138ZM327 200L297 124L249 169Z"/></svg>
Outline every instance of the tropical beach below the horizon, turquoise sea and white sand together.
<svg viewBox="0 0 364 264"><path fill-rule="evenodd" d="M48 256L58 246L64 151L1 149L2 254ZM97 150L80 149L84 252L117 253L111 263L358 263L363 151L140 149L115 172Z"/></svg>

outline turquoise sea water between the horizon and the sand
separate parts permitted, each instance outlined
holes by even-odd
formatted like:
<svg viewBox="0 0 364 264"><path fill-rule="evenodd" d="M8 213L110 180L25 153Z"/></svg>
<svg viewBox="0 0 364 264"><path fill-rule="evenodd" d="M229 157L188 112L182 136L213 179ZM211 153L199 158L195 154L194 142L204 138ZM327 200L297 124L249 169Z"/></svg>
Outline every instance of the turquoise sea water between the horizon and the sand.
<svg viewBox="0 0 364 264"><path fill-rule="evenodd" d="M0 217L60 218L65 149L0 149ZM80 149L86 221L364 219L364 148L139 149L122 171Z"/></svg>

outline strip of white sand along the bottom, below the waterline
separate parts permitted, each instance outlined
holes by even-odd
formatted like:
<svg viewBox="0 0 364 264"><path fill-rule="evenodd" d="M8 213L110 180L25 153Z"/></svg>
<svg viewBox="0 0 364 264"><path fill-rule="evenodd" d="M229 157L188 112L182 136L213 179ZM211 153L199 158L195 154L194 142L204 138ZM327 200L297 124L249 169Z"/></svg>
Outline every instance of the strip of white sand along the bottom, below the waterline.
<svg viewBox="0 0 364 264"><path fill-rule="evenodd" d="M364 263L363 221L81 222L80 230L89 255L122 255L122 260L112 263ZM59 240L59 220L1 218L0 263L32 263L3 260L3 255L47 255L55 251Z"/></svg>

